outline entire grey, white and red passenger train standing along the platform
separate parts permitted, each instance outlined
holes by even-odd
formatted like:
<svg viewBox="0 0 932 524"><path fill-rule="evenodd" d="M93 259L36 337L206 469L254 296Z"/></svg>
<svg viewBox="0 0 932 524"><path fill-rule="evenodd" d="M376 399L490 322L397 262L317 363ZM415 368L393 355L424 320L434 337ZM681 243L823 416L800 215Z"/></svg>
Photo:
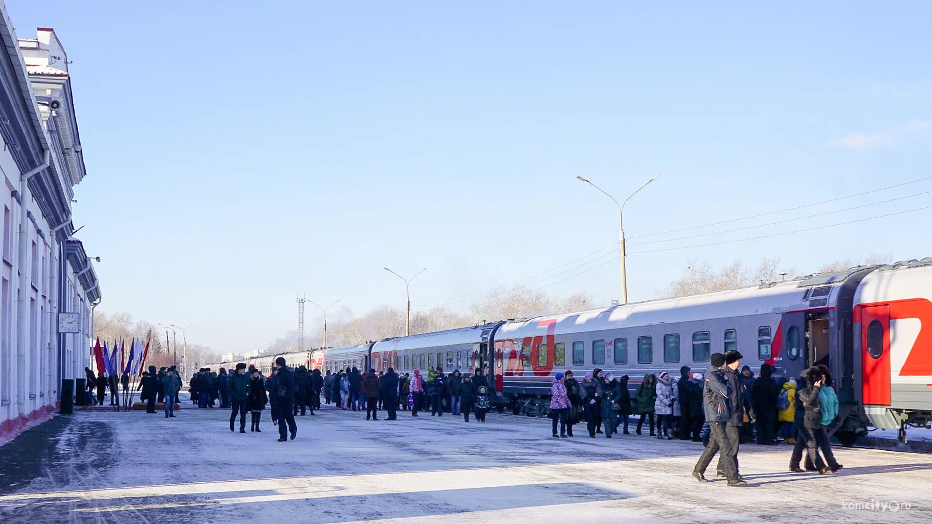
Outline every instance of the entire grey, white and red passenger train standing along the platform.
<svg viewBox="0 0 932 524"><path fill-rule="evenodd" d="M249 361L268 374L272 361L322 371L358 367L399 372L469 373L482 367L499 410L549 406L557 371L577 378L600 367L637 387L649 373L705 372L710 354L738 350L758 373L798 377L824 363L836 379L851 446L868 424L897 429L932 421L932 257L889 266L818 273L731 291L649 300L599 310L510 319L349 348L267 355ZM235 363L211 365L217 368Z"/></svg>

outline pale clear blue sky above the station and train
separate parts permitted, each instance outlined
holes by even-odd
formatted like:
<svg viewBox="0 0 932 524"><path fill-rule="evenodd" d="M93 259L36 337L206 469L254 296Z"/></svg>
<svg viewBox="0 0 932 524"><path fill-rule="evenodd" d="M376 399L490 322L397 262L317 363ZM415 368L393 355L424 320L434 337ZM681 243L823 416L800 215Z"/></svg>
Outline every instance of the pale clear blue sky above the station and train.
<svg viewBox="0 0 932 524"><path fill-rule="evenodd" d="M53 27L73 61L88 168L75 225L103 258L101 309L197 323L189 341L221 352L294 329L295 293L342 297L343 315L403 305L383 266L431 265L413 298L443 298L606 246L617 212L577 175L619 199L661 175L626 208L629 235L932 176L923 2L7 7L20 36ZM652 247L928 205L923 195ZM930 218L631 255L629 298L657 296L691 257L780 255L810 272L870 253L932 255ZM547 290L608 300L618 288L610 263Z"/></svg>

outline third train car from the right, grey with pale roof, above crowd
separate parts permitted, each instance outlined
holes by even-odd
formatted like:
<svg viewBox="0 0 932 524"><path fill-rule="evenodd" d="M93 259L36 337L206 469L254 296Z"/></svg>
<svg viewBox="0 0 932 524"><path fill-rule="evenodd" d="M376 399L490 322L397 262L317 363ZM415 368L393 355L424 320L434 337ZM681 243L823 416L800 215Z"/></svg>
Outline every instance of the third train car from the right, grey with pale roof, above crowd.
<svg viewBox="0 0 932 524"><path fill-rule="evenodd" d="M487 371L491 354L488 351L489 340L501 324L478 324L409 337L386 338L373 346L370 367L376 371L393 367L400 373L413 373L419 369L426 375L429 366L436 368L439 365L444 368L445 374L457 369L460 373L472 374L473 369L481 364Z"/></svg>

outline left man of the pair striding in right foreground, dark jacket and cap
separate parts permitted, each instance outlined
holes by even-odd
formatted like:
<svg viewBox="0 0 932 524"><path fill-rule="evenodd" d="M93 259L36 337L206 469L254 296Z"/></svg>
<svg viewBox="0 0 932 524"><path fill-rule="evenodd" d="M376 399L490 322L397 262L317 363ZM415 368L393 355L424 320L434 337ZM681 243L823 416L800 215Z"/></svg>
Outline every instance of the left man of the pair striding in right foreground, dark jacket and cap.
<svg viewBox="0 0 932 524"><path fill-rule="evenodd" d="M708 482L706 468L715 454L720 452L719 462L728 477L728 485L746 486L747 483L738 476L737 466L734 464L732 448L737 448L737 443L732 443L732 436L727 431L728 423L732 421L734 390L725 377L724 366L725 355L715 353L711 357L711 365L706 369L703 404L711 435L708 446L692 469L692 476L699 482Z"/></svg>

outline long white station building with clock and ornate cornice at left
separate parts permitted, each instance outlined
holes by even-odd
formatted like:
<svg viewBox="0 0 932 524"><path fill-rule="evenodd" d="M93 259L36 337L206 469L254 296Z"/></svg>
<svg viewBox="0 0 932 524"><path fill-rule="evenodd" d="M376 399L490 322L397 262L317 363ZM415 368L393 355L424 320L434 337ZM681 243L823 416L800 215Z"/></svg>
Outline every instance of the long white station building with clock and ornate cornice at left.
<svg viewBox="0 0 932 524"><path fill-rule="evenodd" d="M36 33L17 38L0 1L0 437L50 417L62 379L84 378L101 300L73 236L85 166L68 59L53 30Z"/></svg>

